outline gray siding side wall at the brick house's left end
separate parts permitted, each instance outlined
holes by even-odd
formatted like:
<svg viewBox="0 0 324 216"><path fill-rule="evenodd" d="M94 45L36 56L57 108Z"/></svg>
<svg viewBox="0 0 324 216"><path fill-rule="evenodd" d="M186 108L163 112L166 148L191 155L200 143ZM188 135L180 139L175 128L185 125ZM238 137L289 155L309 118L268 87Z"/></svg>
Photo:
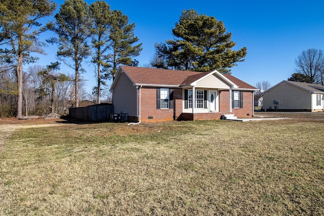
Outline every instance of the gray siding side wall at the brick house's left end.
<svg viewBox="0 0 324 216"><path fill-rule="evenodd" d="M137 89L125 73L121 73L112 93L114 113L137 116Z"/></svg>

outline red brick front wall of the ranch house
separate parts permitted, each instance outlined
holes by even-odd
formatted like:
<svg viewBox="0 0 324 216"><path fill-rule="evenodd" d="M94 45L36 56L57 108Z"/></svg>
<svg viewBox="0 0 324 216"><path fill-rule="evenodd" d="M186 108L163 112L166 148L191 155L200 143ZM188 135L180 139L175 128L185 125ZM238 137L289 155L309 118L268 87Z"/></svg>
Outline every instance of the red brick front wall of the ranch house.
<svg viewBox="0 0 324 216"><path fill-rule="evenodd" d="M253 114L253 92L244 92L243 108L232 108L232 113L229 112L229 91L224 90L219 91L220 112L192 114L182 113L182 89L173 90L174 109L156 109L156 88L141 88L141 121L212 120L220 119L223 114L235 114L237 117L252 117Z"/></svg>

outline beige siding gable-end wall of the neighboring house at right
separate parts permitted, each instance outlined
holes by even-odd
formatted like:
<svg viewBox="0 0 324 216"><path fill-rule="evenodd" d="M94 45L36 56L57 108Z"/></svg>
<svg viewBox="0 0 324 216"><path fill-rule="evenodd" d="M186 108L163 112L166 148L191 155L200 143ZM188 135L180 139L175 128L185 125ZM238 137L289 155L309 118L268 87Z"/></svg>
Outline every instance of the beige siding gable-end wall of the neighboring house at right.
<svg viewBox="0 0 324 216"><path fill-rule="evenodd" d="M286 82L277 85L263 95L263 108L274 109L273 101L279 102L279 109L311 109L311 93Z"/></svg>

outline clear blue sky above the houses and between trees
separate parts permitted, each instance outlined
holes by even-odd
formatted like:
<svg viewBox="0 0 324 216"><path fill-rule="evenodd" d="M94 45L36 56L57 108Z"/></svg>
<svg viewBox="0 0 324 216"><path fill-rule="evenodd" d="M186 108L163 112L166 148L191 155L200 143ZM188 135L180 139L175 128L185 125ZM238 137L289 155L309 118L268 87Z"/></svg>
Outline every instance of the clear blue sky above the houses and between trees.
<svg viewBox="0 0 324 216"><path fill-rule="evenodd" d="M58 8L64 1L55 1ZM86 0L90 5L94 1ZM233 50L247 47L244 62L233 67L233 76L256 85L268 80L272 85L287 80L294 73L295 59L311 48L324 50L324 1L106 1L112 10L120 10L135 23L135 35L142 43L139 66L148 64L154 54L155 42L172 39L172 28L181 12L194 9L199 14L223 21L227 32L236 42ZM49 35L49 33L47 33ZM54 62L56 47L46 48L49 55L41 56L37 64ZM87 91L96 85L94 67L83 63L87 73ZM73 71L61 66L62 70ZM110 84L111 81L108 81Z"/></svg>

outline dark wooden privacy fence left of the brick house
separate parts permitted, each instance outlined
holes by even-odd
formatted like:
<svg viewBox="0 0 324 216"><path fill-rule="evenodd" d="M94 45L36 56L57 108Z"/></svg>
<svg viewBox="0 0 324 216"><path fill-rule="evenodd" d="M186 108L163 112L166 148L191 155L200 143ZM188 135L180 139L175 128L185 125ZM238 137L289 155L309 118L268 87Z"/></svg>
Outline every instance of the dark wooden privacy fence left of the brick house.
<svg viewBox="0 0 324 216"><path fill-rule="evenodd" d="M112 104L96 104L87 107L70 108L69 116L88 122L109 121L113 114Z"/></svg>

